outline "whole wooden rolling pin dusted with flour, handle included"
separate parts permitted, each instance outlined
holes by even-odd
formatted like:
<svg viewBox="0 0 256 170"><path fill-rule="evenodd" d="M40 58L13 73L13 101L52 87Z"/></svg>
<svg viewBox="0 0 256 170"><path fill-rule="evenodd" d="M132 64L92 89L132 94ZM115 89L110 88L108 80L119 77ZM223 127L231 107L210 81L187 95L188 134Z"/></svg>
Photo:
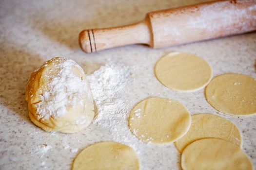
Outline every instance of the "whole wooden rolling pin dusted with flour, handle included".
<svg viewBox="0 0 256 170"><path fill-rule="evenodd" d="M254 30L256 0L218 0L150 12L131 25L83 30L79 45L89 53L128 44L160 48Z"/></svg>

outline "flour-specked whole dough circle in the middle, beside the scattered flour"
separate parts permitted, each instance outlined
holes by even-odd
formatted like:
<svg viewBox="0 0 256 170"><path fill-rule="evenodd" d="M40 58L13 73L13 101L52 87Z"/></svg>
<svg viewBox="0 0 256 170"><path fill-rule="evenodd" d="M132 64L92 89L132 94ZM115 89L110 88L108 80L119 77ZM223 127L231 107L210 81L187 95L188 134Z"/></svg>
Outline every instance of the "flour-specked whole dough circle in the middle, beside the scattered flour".
<svg viewBox="0 0 256 170"><path fill-rule="evenodd" d="M144 142L169 143L188 132L191 116L180 102L154 97L132 109L128 124L131 132Z"/></svg>

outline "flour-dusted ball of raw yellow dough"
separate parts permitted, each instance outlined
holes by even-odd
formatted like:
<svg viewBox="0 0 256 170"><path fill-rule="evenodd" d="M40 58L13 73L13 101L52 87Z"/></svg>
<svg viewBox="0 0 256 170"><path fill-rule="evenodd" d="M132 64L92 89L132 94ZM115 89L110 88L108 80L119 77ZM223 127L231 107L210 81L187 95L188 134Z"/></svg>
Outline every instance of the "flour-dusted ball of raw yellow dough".
<svg viewBox="0 0 256 170"><path fill-rule="evenodd" d="M94 117L92 93L84 71L66 58L53 58L31 74L26 101L30 119L47 132L79 132Z"/></svg>

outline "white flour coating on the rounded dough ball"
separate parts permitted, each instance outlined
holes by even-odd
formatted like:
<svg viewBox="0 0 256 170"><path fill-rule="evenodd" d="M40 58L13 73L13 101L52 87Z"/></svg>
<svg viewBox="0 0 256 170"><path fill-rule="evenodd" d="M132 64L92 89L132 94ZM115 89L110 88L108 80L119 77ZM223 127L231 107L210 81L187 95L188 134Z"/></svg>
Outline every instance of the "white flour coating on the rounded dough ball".
<svg viewBox="0 0 256 170"><path fill-rule="evenodd" d="M39 119L57 118L66 114L69 107L85 103L83 96L90 93L86 80L81 79L71 70L72 67L82 70L76 62L66 58L54 59L52 60L54 68L59 69L59 72L57 75L52 74L45 77L48 82L48 90L38 92L41 100L37 103ZM47 63L41 68L46 66ZM51 71L49 70L49 73Z"/></svg>

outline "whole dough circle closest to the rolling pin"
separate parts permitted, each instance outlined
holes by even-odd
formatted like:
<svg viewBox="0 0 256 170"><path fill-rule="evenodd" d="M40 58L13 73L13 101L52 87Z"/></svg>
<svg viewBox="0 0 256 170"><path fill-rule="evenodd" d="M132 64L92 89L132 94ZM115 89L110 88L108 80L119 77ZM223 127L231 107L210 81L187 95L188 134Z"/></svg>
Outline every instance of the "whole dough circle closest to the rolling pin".
<svg viewBox="0 0 256 170"><path fill-rule="evenodd" d="M168 88L195 91L210 82L212 68L197 55L172 52L158 60L155 74L158 80Z"/></svg>

